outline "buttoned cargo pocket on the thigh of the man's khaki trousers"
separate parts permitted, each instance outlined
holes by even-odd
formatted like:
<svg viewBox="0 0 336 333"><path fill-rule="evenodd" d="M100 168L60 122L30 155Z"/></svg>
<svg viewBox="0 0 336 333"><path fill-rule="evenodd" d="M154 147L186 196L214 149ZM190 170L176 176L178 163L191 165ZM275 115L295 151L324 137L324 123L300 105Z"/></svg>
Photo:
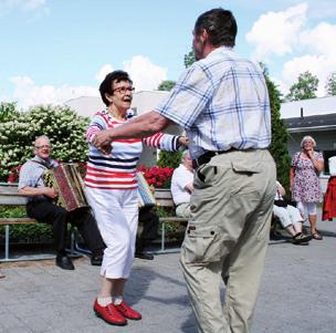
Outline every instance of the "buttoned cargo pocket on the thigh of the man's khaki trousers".
<svg viewBox="0 0 336 333"><path fill-rule="evenodd" d="M218 227L188 225L182 256L186 263L207 264L220 260L221 242Z"/></svg>

